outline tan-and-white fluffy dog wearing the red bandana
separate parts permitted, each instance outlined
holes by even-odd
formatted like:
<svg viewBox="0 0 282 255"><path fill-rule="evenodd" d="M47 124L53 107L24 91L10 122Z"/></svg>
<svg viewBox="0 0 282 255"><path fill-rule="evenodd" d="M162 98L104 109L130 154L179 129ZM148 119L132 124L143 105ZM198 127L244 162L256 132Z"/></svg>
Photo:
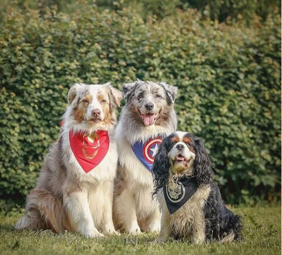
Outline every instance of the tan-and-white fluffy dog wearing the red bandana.
<svg viewBox="0 0 282 255"><path fill-rule="evenodd" d="M86 237L116 233L114 108L121 99L110 83L75 83L69 90L59 139L49 148L17 230L68 230Z"/></svg>

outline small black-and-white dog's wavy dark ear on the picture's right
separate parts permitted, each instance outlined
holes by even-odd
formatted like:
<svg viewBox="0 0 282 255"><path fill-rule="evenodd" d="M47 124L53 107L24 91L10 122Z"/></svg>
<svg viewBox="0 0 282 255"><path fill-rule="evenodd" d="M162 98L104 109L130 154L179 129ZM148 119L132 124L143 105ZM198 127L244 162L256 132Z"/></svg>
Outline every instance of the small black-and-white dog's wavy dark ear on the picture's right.
<svg viewBox="0 0 282 255"><path fill-rule="evenodd" d="M211 159L204 149L202 141L196 137L195 149L196 157L194 160L194 174L197 178L197 183L200 184L211 184L214 180L214 172L212 170Z"/></svg>

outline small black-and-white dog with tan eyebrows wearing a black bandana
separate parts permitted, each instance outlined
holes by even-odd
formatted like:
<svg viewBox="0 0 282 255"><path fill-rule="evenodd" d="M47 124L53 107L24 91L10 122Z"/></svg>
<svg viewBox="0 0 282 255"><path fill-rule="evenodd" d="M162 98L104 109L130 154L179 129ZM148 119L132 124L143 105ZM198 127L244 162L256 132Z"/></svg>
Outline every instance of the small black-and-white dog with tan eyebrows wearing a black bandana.
<svg viewBox="0 0 282 255"><path fill-rule="evenodd" d="M213 182L211 160L198 137L181 131L167 136L152 173L162 210L156 241L166 241L169 236L191 236L193 243L239 239L241 217L225 207Z"/></svg>

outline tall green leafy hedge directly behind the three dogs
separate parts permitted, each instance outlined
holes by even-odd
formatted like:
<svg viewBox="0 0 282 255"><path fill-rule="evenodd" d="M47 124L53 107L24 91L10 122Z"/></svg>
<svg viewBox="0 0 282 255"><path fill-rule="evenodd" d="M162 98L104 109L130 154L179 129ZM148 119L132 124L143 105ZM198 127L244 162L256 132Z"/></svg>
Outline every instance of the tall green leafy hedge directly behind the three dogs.
<svg viewBox="0 0 282 255"><path fill-rule="evenodd" d="M201 20L180 10L70 14L7 8L0 32L0 197L34 187L73 82L163 80L179 88L179 129L202 137L229 203L274 200L281 169L281 17Z"/></svg>

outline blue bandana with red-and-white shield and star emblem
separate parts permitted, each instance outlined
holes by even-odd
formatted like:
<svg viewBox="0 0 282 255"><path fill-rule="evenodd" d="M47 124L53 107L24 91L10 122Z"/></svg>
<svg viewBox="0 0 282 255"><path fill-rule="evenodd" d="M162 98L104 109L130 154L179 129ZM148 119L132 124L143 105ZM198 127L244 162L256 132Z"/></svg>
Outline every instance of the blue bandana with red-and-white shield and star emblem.
<svg viewBox="0 0 282 255"><path fill-rule="evenodd" d="M149 138L145 143L137 141L131 146L136 157L150 172L162 140L163 136L159 135Z"/></svg>

